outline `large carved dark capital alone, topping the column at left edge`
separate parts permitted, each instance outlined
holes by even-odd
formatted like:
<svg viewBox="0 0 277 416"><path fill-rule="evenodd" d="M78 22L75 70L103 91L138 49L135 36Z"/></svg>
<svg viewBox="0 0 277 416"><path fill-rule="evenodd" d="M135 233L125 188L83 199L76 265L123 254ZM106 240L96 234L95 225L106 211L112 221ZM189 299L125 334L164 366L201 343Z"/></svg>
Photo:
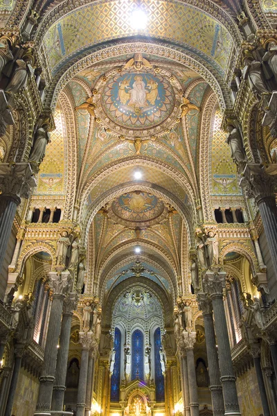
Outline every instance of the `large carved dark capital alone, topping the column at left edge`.
<svg viewBox="0 0 277 416"><path fill-rule="evenodd" d="M20 198L30 198L32 188L37 184L28 163L2 163L0 165L1 196L14 198L17 205Z"/></svg>

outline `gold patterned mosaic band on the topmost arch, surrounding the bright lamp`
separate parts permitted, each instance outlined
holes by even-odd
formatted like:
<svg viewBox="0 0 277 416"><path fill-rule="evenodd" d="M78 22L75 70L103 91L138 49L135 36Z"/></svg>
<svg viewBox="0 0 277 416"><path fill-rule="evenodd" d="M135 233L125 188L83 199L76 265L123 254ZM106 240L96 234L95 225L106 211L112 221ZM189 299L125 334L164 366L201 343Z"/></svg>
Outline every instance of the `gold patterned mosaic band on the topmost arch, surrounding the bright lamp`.
<svg viewBox="0 0 277 416"><path fill-rule="evenodd" d="M218 71L226 68L233 41L215 19L175 1L143 0L141 8L148 16L148 28L141 35L184 44ZM78 8L53 24L42 42L51 71L93 44L136 35L132 10L132 0L103 1Z"/></svg>

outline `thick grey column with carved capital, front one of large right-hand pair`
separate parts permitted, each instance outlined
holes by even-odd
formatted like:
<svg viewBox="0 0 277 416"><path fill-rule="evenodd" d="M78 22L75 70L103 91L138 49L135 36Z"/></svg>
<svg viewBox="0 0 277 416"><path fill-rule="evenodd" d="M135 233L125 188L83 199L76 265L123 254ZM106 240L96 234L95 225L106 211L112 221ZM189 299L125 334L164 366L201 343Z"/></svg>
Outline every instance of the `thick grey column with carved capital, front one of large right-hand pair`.
<svg viewBox="0 0 277 416"><path fill-rule="evenodd" d="M235 388L235 374L233 372L231 348L223 304L225 278L225 272L221 272L220 270L212 272L208 270L204 277L204 287L211 295L213 302L225 415L238 416L240 415L240 407L238 405L238 394Z"/></svg>

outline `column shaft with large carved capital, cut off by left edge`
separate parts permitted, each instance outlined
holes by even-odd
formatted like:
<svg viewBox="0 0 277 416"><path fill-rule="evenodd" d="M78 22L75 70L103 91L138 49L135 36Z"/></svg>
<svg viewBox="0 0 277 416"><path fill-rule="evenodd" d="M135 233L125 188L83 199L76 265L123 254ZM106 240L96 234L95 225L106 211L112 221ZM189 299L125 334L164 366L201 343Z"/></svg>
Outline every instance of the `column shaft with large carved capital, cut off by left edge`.
<svg viewBox="0 0 277 416"><path fill-rule="evenodd" d="M29 198L36 182L28 163L0 164L0 269L21 197Z"/></svg>

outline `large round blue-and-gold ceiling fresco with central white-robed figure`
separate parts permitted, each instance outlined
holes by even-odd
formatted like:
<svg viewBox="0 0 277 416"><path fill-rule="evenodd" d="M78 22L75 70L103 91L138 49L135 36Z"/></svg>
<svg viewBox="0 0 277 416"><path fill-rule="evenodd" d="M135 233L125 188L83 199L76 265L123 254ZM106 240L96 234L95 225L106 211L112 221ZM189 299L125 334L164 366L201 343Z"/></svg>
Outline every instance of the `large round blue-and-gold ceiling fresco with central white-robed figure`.
<svg viewBox="0 0 277 416"><path fill-rule="evenodd" d="M152 73L119 74L107 82L103 92L102 107L107 116L134 129L161 123L175 105L168 80Z"/></svg>

